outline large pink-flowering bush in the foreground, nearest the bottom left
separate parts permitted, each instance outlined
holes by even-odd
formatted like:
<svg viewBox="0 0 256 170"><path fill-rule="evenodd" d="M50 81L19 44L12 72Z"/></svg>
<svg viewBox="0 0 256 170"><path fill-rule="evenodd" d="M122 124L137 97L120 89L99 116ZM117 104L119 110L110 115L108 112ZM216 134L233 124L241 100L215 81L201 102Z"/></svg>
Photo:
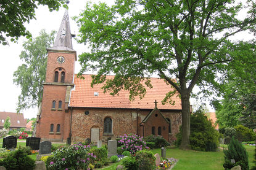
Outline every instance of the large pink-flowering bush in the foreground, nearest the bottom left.
<svg viewBox="0 0 256 170"><path fill-rule="evenodd" d="M89 153L89 145L73 144L61 147L53 152L54 159L49 167L54 169L87 169L96 156Z"/></svg>

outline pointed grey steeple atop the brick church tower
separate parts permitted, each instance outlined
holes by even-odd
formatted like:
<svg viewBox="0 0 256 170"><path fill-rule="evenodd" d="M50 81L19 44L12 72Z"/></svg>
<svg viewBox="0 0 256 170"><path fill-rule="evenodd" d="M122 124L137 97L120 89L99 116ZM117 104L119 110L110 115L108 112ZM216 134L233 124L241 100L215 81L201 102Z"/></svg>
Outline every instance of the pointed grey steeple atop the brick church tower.
<svg viewBox="0 0 256 170"><path fill-rule="evenodd" d="M70 33L68 10L65 10L54 45L49 48L49 50L75 51L72 46L72 34Z"/></svg>

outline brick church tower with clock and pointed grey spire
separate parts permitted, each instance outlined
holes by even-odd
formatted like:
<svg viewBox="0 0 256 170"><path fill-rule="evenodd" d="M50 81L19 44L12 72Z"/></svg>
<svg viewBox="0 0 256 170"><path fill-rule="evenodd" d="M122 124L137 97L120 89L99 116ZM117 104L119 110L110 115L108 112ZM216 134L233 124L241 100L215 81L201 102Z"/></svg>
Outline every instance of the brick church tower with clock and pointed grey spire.
<svg viewBox="0 0 256 170"><path fill-rule="evenodd" d="M36 120L36 137L51 141L70 136L68 103L73 88L76 51L72 47L72 34L68 12L65 11L53 47L47 49L46 81L43 101Z"/></svg>

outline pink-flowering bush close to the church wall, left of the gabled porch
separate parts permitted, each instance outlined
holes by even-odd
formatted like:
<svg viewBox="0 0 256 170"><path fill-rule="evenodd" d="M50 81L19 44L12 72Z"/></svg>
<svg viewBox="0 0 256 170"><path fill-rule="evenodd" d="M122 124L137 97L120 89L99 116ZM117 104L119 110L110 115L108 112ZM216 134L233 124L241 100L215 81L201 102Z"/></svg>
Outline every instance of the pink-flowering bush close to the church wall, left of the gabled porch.
<svg viewBox="0 0 256 170"><path fill-rule="evenodd" d="M138 136L137 134L124 134L120 136L120 141L118 143L121 145L121 149L124 151L128 151L131 154L134 154L142 149L149 149L146 146L146 142L144 142L143 137Z"/></svg>

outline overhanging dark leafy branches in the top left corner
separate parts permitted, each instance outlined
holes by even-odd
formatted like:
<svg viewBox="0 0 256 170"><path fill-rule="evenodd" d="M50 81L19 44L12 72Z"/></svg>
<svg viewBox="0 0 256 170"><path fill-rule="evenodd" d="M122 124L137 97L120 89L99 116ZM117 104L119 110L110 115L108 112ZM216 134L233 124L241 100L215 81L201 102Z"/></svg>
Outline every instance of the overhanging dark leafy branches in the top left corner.
<svg viewBox="0 0 256 170"><path fill-rule="evenodd" d="M39 5L48 6L49 10L58 10L62 4L67 7L65 0L1 0L0 1L0 44L8 44L6 37L12 37L10 41L17 41L20 36L31 34L24 26L35 18L35 9Z"/></svg>

